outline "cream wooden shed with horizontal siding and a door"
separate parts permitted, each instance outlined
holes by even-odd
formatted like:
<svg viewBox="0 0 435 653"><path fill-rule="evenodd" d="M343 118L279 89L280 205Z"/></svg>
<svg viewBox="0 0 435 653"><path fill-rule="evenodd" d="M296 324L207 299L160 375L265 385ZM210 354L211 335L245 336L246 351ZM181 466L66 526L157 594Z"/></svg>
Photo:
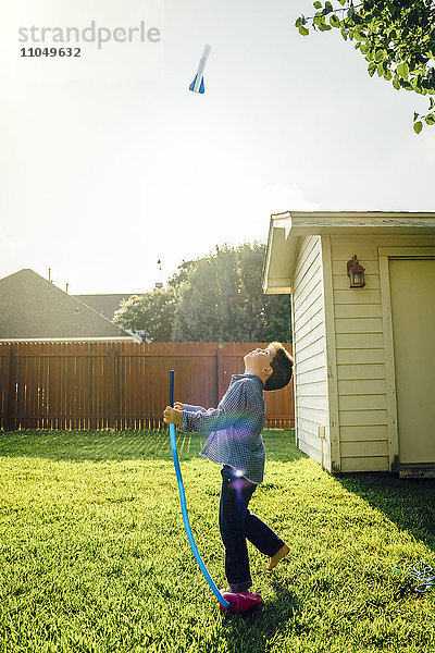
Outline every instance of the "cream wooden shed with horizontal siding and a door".
<svg viewBox="0 0 435 653"><path fill-rule="evenodd" d="M273 214L263 289L291 295L297 446L332 472L435 476L435 213Z"/></svg>

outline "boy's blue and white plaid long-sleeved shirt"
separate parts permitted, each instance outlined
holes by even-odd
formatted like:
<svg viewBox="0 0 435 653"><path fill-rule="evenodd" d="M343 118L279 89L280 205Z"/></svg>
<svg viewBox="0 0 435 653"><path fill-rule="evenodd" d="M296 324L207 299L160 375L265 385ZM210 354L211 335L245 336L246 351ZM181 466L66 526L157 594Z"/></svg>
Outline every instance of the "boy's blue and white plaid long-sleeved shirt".
<svg viewBox="0 0 435 653"><path fill-rule="evenodd" d="M261 483L265 451L261 431L265 405L263 382L254 374L233 374L217 408L183 404L182 431L210 433L201 456L229 465L252 483Z"/></svg>

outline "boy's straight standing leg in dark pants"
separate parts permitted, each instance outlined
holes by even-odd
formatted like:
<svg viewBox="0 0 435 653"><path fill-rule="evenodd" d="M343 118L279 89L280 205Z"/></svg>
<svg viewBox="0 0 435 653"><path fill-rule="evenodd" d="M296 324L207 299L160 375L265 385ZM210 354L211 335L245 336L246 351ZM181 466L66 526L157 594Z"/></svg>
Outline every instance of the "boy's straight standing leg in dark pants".
<svg viewBox="0 0 435 653"><path fill-rule="evenodd" d="M252 586L245 525L257 485L236 477L231 467L225 466L221 473L219 526L225 546L225 575L233 592L245 592Z"/></svg>

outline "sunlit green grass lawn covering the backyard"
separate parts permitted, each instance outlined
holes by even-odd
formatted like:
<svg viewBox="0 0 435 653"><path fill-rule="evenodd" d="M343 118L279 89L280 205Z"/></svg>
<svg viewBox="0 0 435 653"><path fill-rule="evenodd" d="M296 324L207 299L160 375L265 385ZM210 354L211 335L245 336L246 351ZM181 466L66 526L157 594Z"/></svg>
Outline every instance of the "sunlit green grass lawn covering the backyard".
<svg viewBox="0 0 435 653"><path fill-rule="evenodd" d="M169 434L0 433L0 651L435 651L435 482L332 477L264 433L264 484L250 507L290 546L273 572L249 545L261 613L223 615L184 531ZM192 530L225 586L220 469L178 435ZM391 568L401 571L396 572Z"/></svg>

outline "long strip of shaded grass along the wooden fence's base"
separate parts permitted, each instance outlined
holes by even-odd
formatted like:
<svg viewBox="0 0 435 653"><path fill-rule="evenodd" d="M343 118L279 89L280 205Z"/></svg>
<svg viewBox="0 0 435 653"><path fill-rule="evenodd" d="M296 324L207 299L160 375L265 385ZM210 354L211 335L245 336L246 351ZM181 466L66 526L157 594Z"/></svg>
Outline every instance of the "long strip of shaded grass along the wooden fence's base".
<svg viewBox="0 0 435 653"><path fill-rule="evenodd" d="M306 457L294 444L293 431L264 431L268 460L288 463ZM206 442L201 433L176 435L182 461L199 457ZM169 429L125 431L2 431L0 456L53 460L172 460Z"/></svg>

